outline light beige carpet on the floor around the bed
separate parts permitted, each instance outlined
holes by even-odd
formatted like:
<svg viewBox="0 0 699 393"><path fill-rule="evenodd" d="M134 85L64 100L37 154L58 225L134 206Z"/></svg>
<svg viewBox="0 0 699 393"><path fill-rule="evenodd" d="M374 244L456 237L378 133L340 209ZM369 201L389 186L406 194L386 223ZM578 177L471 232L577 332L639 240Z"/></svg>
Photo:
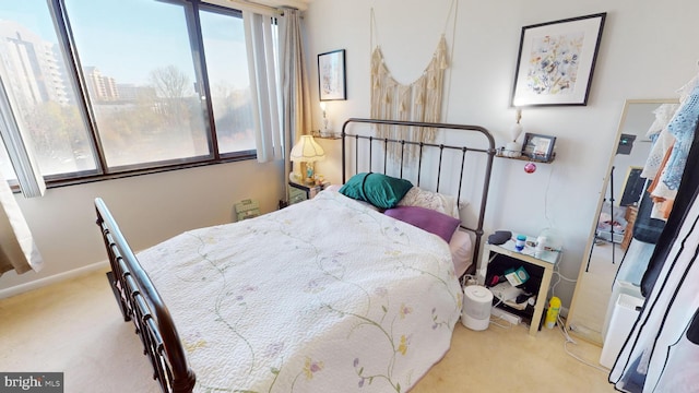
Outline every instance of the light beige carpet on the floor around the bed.
<svg viewBox="0 0 699 393"><path fill-rule="evenodd" d="M606 371L564 344L557 327L533 337L524 325L474 332L458 323L451 349L412 392L614 392ZM599 365L599 347L568 349ZM159 392L141 354L104 272L0 300L1 371L63 372L67 393Z"/></svg>

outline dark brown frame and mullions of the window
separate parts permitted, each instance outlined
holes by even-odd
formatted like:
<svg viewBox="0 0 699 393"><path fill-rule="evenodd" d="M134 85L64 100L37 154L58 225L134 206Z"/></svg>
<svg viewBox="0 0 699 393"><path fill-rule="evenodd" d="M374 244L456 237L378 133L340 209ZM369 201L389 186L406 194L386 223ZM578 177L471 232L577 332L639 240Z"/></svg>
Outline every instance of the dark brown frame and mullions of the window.
<svg viewBox="0 0 699 393"><path fill-rule="evenodd" d="M256 150L246 150L230 153L221 153L218 151L218 141L216 134L216 124L213 112L213 100L210 88L208 74L206 55L204 52L203 34L201 31L200 12L215 12L232 17L242 19L242 11L233 8L221 7L211 3L204 3L200 0L152 0L163 3L169 3L182 7L187 23L189 46L192 56L194 74L197 78L197 86L199 99L205 102L202 105L204 128L206 132L209 154L205 156L176 158L169 160L152 162L145 164L133 164L126 166L109 167L106 162L105 152L103 150L100 134L96 121L95 111L90 100L85 75L82 70L82 63L79 57L79 49L72 33L70 19L66 8L64 0L47 1L48 11L51 15L58 46L61 56L67 66L67 83L75 88L75 100L79 108L81 119L87 130L90 136L90 148L94 154L96 169L73 171L70 174L45 175L47 188L57 188L62 186L73 186L80 183L95 182L102 180L149 175L164 172L170 170L187 169L192 167L226 164L239 160L248 160L257 158ZM270 16L272 17L272 16ZM14 183L14 182L12 182ZM19 186L12 184L13 190L19 191Z"/></svg>

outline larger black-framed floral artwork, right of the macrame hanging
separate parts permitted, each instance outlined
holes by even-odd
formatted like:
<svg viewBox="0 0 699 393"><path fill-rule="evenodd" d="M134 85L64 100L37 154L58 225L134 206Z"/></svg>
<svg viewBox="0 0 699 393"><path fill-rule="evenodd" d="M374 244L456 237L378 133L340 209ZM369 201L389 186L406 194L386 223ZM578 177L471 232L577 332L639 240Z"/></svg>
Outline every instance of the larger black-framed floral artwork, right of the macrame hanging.
<svg viewBox="0 0 699 393"><path fill-rule="evenodd" d="M606 13L522 27L510 105L588 105Z"/></svg>

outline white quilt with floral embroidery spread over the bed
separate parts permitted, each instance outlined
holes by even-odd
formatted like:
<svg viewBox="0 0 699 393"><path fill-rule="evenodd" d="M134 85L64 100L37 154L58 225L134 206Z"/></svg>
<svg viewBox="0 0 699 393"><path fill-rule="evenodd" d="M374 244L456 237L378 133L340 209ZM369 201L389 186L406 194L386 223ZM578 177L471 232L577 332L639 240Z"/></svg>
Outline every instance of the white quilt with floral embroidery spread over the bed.
<svg viewBox="0 0 699 393"><path fill-rule="evenodd" d="M334 191L138 257L197 392L405 392L461 312L442 239Z"/></svg>

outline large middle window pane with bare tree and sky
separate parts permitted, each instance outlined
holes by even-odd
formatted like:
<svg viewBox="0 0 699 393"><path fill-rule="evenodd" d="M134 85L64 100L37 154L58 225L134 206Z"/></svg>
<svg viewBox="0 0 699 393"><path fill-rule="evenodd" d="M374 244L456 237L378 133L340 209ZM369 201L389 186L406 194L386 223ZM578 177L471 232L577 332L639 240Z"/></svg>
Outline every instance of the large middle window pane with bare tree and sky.
<svg viewBox="0 0 699 393"><path fill-rule="evenodd" d="M66 0L109 168L211 154L186 8Z"/></svg>

